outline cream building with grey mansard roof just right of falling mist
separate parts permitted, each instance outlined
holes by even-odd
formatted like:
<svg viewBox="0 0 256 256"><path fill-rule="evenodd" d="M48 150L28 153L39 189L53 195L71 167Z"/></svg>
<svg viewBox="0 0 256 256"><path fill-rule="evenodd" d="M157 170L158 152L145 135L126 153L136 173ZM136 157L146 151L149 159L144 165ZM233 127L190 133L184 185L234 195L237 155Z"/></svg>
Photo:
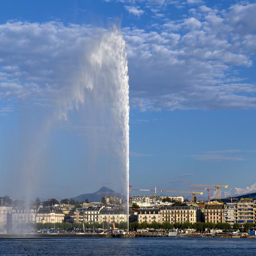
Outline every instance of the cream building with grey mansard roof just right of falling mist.
<svg viewBox="0 0 256 256"><path fill-rule="evenodd" d="M36 215L37 223L57 223L63 222L64 213L60 208L48 206L40 207Z"/></svg>

